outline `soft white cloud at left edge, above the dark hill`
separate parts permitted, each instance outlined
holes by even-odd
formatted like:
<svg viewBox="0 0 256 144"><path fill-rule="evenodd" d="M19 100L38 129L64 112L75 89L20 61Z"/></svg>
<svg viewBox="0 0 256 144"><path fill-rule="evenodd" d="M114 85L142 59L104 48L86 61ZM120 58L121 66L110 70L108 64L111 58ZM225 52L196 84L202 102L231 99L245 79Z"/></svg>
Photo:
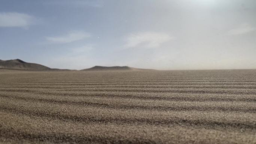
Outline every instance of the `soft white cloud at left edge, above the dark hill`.
<svg viewBox="0 0 256 144"><path fill-rule="evenodd" d="M0 27L28 27L33 23L33 16L17 12L1 12Z"/></svg>

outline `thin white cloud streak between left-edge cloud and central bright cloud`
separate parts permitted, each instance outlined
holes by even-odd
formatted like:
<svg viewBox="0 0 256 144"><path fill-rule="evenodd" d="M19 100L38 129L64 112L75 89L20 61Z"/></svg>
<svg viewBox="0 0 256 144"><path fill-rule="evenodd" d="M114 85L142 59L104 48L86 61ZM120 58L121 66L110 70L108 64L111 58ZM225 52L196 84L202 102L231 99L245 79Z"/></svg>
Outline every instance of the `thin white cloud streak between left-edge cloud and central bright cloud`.
<svg viewBox="0 0 256 144"><path fill-rule="evenodd" d="M46 39L48 41L54 42L54 43L71 43L71 42L75 42L77 40L86 39L88 37L91 37L91 35L89 33L73 31L64 36L46 37Z"/></svg>

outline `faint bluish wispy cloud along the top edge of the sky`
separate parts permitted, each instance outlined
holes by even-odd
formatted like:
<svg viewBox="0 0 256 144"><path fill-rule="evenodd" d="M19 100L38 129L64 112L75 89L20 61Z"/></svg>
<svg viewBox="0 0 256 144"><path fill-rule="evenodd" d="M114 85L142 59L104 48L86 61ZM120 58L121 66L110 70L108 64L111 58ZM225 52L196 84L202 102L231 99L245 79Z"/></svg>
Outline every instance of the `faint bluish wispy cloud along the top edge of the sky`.
<svg viewBox="0 0 256 144"><path fill-rule="evenodd" d="M51 0L48 4L56 4L59 6L75 6L75 7L103 7L103 0Z"/></svg>

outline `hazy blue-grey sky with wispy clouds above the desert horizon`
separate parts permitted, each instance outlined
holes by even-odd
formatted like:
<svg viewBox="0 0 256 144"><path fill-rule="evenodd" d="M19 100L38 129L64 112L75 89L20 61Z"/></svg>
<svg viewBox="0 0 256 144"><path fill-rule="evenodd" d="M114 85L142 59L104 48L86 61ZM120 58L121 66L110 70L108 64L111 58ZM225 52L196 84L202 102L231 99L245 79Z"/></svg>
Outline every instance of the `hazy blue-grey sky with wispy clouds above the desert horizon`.
<svg viewBox="0 0 256 144"><path fill-rule="evenodd" d="M256 68L255 0L0 0L0 59L51 68Z"/></svg>

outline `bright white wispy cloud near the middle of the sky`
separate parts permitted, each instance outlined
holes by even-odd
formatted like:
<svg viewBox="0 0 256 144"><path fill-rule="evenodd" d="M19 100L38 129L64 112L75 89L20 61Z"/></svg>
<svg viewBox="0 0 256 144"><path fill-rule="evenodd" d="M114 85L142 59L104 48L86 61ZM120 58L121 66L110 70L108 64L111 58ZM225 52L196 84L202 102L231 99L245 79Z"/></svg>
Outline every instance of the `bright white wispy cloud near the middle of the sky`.
<svg viewBox="0 0 256 144"><path fill-rule="evenodd" d="M145 48L157 48L162 43L168 42L173 39L166 33L156 33L156 32L141 32L135 34L129 34L125 41L125 48L133 47L145 47Z"/></svg>

